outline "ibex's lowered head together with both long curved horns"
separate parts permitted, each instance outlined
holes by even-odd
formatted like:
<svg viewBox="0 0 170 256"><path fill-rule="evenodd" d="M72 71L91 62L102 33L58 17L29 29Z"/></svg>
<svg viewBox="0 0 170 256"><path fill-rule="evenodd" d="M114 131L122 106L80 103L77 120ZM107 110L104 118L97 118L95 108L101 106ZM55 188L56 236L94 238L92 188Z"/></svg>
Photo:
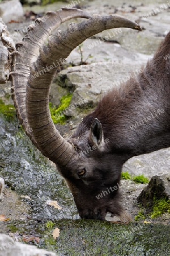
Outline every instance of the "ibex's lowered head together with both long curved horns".
<svg viewBox="0 0 170 256"><path fill-rule="evenodd" d="M71 23L66 31L50 36L59 24L76 17L88 20ZM126 156L114 154L100 113L87 115L67 141L58 133L49 112L49 88L56 75L53 63L66 58L86 38L116 27L140 30L137 23L118 15L91 16L81 10L63 8L37 19L36 26L29 26L27 36L13 53L10 77L19 120L42 154L56 163L83 218L104 220L108 211L124 217L118 182ZM103 197L99 196L101 193Z"/></svg>

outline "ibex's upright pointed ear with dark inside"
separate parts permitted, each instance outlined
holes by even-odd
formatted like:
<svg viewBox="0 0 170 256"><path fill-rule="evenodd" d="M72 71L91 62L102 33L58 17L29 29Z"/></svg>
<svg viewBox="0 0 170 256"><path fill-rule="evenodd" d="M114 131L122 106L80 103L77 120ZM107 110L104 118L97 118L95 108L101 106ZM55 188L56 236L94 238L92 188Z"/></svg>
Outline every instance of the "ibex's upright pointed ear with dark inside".
<svg viewBox="0 0 170 256"><path fill-rule="evenodd" d="M90 127L90 140L95 146L104 145L103 130L99 119L95 118Z"/></svg>

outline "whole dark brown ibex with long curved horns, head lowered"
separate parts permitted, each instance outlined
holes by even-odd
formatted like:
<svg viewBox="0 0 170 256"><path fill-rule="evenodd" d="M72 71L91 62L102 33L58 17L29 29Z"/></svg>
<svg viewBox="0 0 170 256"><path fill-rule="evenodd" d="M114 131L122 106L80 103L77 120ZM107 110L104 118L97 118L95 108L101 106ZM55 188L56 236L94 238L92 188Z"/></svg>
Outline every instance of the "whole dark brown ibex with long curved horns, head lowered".
<svg viewBox="0 0 170 256"><path fill-rule="evenodd" d="M87 20L50 35L59 24L76 17ZM104 220L107 212L129 218L118 192L122 165L132 156L170 146L170 60L164 58L170 51L170 33L143 72L109 91L69 140L53 124L49 112L49 89L57 69L53 63L66 58L86 38L115 27L140 30L137 23L118 15L91 16L73 8L50 11L28 27L13 53L10 79L18 118L33 144L56 163L82 218ZM36 76L39 71L44 72ZM130 128L151 113L157 116ZM102 191L110 193L97 200Z"/></svg>

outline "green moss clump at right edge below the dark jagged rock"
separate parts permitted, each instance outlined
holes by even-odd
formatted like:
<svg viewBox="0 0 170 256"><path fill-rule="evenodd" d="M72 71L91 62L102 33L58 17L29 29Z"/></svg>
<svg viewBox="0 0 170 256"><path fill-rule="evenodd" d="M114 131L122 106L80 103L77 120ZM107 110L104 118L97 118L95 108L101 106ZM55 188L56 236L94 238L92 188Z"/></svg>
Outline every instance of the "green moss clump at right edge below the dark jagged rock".
<svg viewBox="0 0 170 256"><path fill-rule="evenodd" d="M151 218L160 216L161 214L168 212L170 213L170 200L168 199L156 199L153 200L154 206L151 212Z"/></svg>

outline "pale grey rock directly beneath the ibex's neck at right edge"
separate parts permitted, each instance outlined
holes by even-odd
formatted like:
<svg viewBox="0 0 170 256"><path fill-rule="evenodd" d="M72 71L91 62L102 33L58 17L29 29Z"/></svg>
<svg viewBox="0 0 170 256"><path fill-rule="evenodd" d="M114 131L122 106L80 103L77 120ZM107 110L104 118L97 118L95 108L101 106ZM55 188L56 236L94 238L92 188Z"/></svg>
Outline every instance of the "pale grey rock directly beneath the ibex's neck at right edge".
<svg viewBox="0 0 170 256"><path fill-rule="evenodd" d="M152 176L170 173L170 148L134 156L130 158L122 168L123 172L128 171L130 175L143 174L151 179Z"/></svg>

